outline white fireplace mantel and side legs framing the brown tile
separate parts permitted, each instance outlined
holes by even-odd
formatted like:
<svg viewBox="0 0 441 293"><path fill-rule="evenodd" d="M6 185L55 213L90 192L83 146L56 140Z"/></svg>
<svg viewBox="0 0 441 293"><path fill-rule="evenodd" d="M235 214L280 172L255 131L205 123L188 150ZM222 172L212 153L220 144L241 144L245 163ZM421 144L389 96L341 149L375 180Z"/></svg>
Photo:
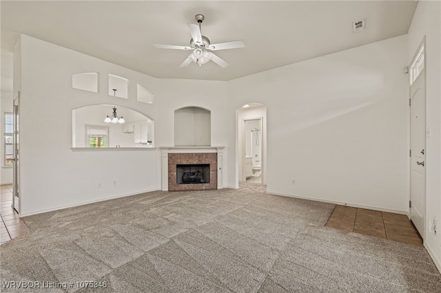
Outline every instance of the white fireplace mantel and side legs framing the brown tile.
<svg viewBox="0 0 441 293"><path fill-rule="evenodd" d="M168 191L169 153L217 153L217 188L223 188L223 149L225 146L161 146L161 189Z"/></svg>

